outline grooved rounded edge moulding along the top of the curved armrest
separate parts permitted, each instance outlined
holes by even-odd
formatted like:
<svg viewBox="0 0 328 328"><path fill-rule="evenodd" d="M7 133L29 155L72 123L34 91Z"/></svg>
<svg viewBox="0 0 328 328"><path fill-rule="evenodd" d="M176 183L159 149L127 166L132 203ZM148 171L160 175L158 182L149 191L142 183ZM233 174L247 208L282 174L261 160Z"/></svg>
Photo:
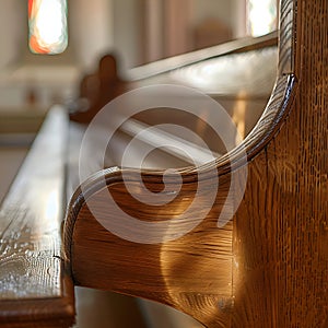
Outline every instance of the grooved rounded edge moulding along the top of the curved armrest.
<svg viewBox="0 0 328 328"><path fill-rule="evenodd" d="M284 124L284 120L289 115L291 103L293 102L295 89L296 79L293 74L278 78L266 110L247 138L230 153L209 164L200 167L186 167L179 169L184 183L197 183L198 177L211 179L211 174L213 173L218 173L219 176L229 175L232 167L233 169L238 168L238 162L241 162L241 165L245 165L245 162L242 161L245 151L247 154L247 162L253 161L254 157L266 148L270 140L274 138ZM163 184L163 171L144 169L140 172L138 169L125 169L125 176L129 176L131 181L139 180L141 175L144 184L148 185ZM91 197L103 188L104 180L107 186L121 183L122 171L119 167L112 167L95 173L82 187L77 189L71 198L63 234L65 256L67 260L70 258L68 249L72 241L73 226L78 213L84 204L85 198Z"/></svg>

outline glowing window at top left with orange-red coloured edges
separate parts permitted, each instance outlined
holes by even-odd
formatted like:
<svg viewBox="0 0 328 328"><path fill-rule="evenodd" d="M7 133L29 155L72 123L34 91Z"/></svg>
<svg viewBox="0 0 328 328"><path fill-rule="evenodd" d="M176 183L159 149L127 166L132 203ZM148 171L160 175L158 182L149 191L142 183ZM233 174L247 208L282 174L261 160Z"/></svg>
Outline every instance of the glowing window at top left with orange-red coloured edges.
<svg viewBox="0 0 328 328"><path fill-rule="evenodd" d="M28 0L28 31L32 52L63 52L68 45L67 0Z"/></svg>

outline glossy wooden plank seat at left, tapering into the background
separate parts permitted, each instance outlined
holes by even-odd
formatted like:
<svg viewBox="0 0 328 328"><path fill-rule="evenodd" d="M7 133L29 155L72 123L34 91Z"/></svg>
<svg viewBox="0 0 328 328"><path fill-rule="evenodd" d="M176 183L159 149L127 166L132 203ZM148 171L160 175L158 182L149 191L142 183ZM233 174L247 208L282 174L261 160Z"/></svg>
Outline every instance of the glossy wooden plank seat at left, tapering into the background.
<svg viewBox="0 0 328 328"><path fill-rule="evenodd" d="M54 108L1 206L1 327L73 323L60 236L66 128L65 110Z"/></svg>

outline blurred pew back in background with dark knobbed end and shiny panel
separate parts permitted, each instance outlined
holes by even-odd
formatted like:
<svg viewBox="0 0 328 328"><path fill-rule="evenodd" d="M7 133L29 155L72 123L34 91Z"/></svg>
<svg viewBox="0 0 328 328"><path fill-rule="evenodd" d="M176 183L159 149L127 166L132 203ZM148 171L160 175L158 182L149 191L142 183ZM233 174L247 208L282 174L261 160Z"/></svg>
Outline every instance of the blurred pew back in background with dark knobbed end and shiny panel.
<svg viewBox="0 0 328 328"><path fill-rule="evenodd" d="M68 108L72 120L90 124L103 106L129 90L154 84L183 84L196 87L218 102L232 103L227 112L245 99L261 101L262 112L273 87L276 61L277 33L246 37L138 67L126 72L125 80L117 73L115 56L108 54L101 59L95 73L82 79L80 96L68 104ZM255 115L251 112L246 116ZM251 128L258 118L254 118Z"/></svg>

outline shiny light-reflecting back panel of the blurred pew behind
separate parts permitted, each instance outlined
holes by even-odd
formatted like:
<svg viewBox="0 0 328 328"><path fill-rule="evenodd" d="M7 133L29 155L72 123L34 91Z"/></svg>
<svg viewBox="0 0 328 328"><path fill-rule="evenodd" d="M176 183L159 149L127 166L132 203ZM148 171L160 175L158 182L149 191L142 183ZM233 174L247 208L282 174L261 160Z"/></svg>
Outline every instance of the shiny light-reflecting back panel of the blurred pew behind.
<svg viewBox="0 0 328 328"><path fill-rule="evenodd" d="M133 86L183 84L219 102L221 98L263 98L268 102L277 77L277 65L278 49L277 46L271 46L186 65L166 73L134 81Z"/></svg>

